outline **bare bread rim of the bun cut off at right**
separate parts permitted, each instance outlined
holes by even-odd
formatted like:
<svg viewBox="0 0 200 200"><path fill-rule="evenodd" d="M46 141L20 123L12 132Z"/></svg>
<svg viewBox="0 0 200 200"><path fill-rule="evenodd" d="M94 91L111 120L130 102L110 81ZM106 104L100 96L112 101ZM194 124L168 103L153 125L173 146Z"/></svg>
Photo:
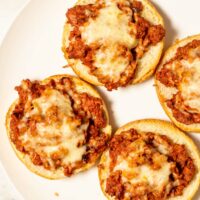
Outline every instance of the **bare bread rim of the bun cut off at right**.
<svg viewBox="0 0 200 200"><path fill-rule="evenodd" d="M163 65L167 63L170 59L172 59L179 47L183 47L187 45L188 43L194 41L194 40L200 40L200 35L190 36L182 40L177 40L174 45L172 45L166 52L164 57L161 60L161 63L159 64L159 67L157 69L157 73L162 69ZM155 86L156 86L156 92L160 101L160 104L162 108L164 109L165 113L168 115L168 117L171 119L171 121L180 129L187 131L187 132L200 132L200 123L193 123L193 124L184 124L180 121L177 121L177 119L173 116L172 110L167 106L166 100L173 97L173 95L177 92L176 89L172 87L166 87L164 84L162 84L159 80L157 80L156 75L154 78Z"/></svg>

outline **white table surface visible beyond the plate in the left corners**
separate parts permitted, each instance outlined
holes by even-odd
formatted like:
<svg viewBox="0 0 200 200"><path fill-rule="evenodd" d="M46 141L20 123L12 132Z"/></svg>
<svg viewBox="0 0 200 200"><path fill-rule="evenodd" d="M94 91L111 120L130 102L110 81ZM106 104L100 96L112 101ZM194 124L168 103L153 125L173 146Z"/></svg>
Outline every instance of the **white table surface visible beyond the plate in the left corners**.
<svg viewBox="0 0 200 200"><path fill-rule="evenodd" d="M28 0L0 0L0 44L17 13ZM5 134L5 133L2 133ZM22 200L0 163L0 200Z"/></svg>

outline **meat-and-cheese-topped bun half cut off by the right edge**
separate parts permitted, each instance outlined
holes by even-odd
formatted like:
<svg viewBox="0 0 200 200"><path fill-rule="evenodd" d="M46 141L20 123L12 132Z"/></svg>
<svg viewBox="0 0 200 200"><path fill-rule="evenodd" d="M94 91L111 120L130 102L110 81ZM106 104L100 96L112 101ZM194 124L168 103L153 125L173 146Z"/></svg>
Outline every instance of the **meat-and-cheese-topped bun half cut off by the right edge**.
<svg viewBox="0 0 200 200"><path fill-rule="evenodd" d="M200 35L178 40L166 51L155 75L163 109L188 132L200 132L199 53Z"/></svg>

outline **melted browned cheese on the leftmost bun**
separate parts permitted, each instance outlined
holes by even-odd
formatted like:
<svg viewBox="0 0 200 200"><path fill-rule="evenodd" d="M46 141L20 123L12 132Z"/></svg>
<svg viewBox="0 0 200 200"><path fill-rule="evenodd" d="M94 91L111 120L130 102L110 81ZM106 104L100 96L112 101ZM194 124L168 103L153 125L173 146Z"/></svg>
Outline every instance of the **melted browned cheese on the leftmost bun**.
<svg viewBox="0 0 200 200"><path fill-rule="evenodd" d="M40 115L46 117L48 109L56 106L58 109L58 121L55 123L37 123L37 135L31 136L25 133L21 140L36 150L39 154L46 155L47 160L51 163L51 155L57 153L63 155L63 164L73 163L82 160L86 151L85 146L77 147L77 144L84 140L84 131L87 130L88 124L79 125L73 119L73 111L70 99L63 96L57 90L45 90L43 96L33 100L34 109L27 113L27 117Z"/></svg>

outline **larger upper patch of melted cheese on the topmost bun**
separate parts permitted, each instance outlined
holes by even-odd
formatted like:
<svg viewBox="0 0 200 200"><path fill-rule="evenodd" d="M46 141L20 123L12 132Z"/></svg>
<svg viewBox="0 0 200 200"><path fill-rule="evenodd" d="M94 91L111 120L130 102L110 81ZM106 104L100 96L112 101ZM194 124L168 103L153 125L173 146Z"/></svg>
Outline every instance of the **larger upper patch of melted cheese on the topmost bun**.
<svg viewBox="0 0 200 200"><path fill-rule="evenodd" d="M125 14L117 7L116 2L111 1L99 10L97 18L90 19L87 25L82 27L82 38L86 44L120 43L131 49L137 45L131 18L132 14Z"/></svg>

